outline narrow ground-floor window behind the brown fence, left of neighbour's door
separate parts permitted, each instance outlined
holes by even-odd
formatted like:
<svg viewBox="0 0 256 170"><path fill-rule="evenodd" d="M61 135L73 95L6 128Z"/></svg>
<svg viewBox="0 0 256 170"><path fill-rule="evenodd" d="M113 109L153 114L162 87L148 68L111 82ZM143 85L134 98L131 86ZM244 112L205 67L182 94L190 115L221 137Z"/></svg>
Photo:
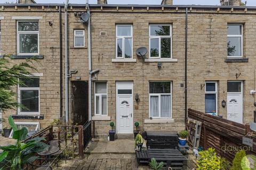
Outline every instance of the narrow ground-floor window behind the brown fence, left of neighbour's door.
<svg viewBox="0 0 256 170"><path fill-rule="evenodd" d="M217 114L217 82L205 82L205 113Z"/></svg>

